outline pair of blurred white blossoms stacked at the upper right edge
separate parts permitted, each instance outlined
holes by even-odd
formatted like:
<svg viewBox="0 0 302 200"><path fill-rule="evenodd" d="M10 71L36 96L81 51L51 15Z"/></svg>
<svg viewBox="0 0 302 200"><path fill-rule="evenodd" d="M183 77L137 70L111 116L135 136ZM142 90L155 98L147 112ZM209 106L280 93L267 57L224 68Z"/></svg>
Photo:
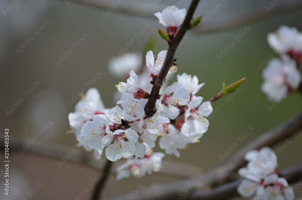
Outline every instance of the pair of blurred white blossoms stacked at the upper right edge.
<svg viewBox="0 0 302 200"><path fill-rule="evenodd" d="M277 101L300 85L298 68L302 61L302 33L294 27L280 26L275 33L268 34L267 40L274 52L280 54L281 60L272 59L263 70L261 90L268 100Z"/></svg>

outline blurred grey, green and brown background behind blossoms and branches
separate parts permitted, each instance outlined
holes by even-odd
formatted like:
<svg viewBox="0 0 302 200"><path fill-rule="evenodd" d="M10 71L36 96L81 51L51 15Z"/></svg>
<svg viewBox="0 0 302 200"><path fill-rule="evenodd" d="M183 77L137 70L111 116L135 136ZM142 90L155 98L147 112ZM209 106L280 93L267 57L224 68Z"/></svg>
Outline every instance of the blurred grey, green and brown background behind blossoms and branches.
<svg viewBox="0 0 302 200"><path fill-rule="evenodd" d="M84 160L85 157L92 157L92 153L86 153L75 147L77 142L73 134L66 134L69 130L68 114L74 111L74 106L79 99L76 99L73 104L69 104L68 101L72 101L72 97L83 87L86 89L95 87L99 90L107 108L115 106L113 101L116 92L115 84L124 82L125 79L110 75L109 59L117 56L116 52L120 52L125 42L131 39L135 42L126 52L141 52L143 61L150 37L153 37L152 41L157 41L155 55L161 50L167 50L168 45L159 37L156 29L156 27L162 29L164 27L159 24L152 11L154 10L153 13L162 11L166 7L165 3L188 9L191 1L121 0L119 7L108 16L104 15L108 14L107 8L117 1L100 1L104 4L103 8L93 5L93 2L98 1L89 1L91 5L87 5L83 3L84 0L16 2L11 9L8 6L13 1L0 2L2 10L0 14L1 135L4 135L5 128L9 128L11 145L14 141L18 141L18 144L26 144L34 136L38 137L25 153L19 153L18 148L10 150L10 196L7 197L1 192L0 197L1 199L73 200L81 191L88 188L89 192L82 199L89 199L93 188L88 185L98 176L96 169L71 160L66 161L59 168L57 162L62 160L60 157L49 156L47 153L37 154L30 150L47 147L63 149L67 153L75 149L76 156ZM201 1L194 16L204 14L209 17L208 11L214 9L213 6L217 6L218 3L222 6L210 18L203 20L203 24L196 30L187 32L188 40L175 54L178 63L177 74L185 72L196 75L200 83L206 82L197 94L204 97L204 100L220 92L222 82L228 85L246 77L240 86L241 91L212 104L217 114L212 115L209 130L201 138L200 143L191 144L188 150L182 150L181 157L173 158L162 172L141 179L129 178L118 182L115 180L116 174L113 169L102 194L104 198L127 194L135 190L137 184L148 186L152 183L169 182L202 174L219 165L222 162L219 156L223 155L223 151L227 150L229 145L238 142L237 137L246 132L249 127L255 129L230 155L265 131L301 111L301 94L295 93L285 98L270 112L268 106L272 106L272 102L269 102L266 95L261 92L263 79L261 71L256 73L255 68L259 68L259 63L270 55L278 57L267 43L266 36L269 32L277 30L280 25L302 30L300 20L302 9L295 7L280 15L271 17L264 15L262 20L247 22L227 31L202 32L203 27L214 26L215 22L240 13L243 16L244 13L249 15L250 10L264 12L267 15L274 12L274 7L268 12L265 8L269 6L269 0L213 0ZM287 2L280 1L275 8L282 3ZM148 8L151 14L147 12ZM137 38L135 33L143 29L145 23L151 26ZM231 26L232 23L233 21L226 20L224 25ZM249 26L250 31L239 41L235 40L237 34L244 31L245 26ZM86 36L82 37L83 34ZM79 45L74 44L81 37L85 40ZM24 45L29 43L27 41L30 41L30 44ZM231 42L235 42L236 45L218 60L217 54L220 55L221 50ZM72 52L69 56L59 65L56 64L55 62L59 62L59 57L62 58L64 52L68 52L70 48ZM96 72L102 74L100 78L90 86L85 84L95 77ZM176 74L169 83L174 81L176 81ZM35 84L38 85L34 86L36 89L31 89ZM20 105L11 108L10 106L16 104L20 98L24 99L19 102ZM218 107L221 103L224 103L225 107L220 110ZM43 129L49 121L53 124L40 136L37 135L39 129ZM292 144L278 155L280 170L302 163L301 134L297 134L291 140L293 140ZM276 150L284 144L285 141L272 149ZM154 151L162 150L156 148ZM100 161L97 161L99 166L104 163L104 158L103 156ZM119 161L119 164L123 162L124 160ZM119 164L115 163L115 167ZM4 174L1 173L0 176L1 181L4 182ZM28 192L36 187L37 182L44 185L34 194L28 195ZM302 189L297 190L295 194L297 198L300 197Z"/></svg>

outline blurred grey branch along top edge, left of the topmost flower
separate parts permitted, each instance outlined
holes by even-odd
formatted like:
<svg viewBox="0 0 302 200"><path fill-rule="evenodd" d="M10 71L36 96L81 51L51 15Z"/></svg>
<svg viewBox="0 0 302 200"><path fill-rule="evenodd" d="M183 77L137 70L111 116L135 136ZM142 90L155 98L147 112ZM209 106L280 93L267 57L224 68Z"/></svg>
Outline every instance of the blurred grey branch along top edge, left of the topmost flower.
<svg viewBox="0 0 302 200"><path fill-rule="evenodd" d="M70 1L70 0L60 0L62 2ZM124 1L120 0L121 3L117 4L117 0L73 0L71 4L79 3L92 8L99 8L103 10L104 13L109 15L111 12L122 13L126 15L140 16L140 17L148 17L155 18L154 13L162 11L165 9L165 5L161 3L148 3L148 2L140 2L140 1ZM116 8L114 5L117 5ZM67 4L69 5L69 4ZM111 7L115 9L113 11L110 10ZM108 11L109 9L109 11ZM108 13L107 13L108 11Z"/></svg>

